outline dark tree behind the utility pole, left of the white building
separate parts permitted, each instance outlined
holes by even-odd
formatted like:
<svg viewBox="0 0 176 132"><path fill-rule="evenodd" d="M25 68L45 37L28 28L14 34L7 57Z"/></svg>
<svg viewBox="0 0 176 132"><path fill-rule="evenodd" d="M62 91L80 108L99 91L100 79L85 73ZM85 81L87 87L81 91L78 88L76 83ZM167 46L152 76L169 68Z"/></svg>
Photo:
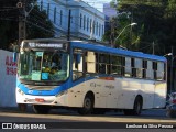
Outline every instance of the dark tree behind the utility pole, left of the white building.
<svg viewBox="0 0 176 132"><path fill-rule="evenodd" d="M16 3L19 0L0 0L0 48L9 50L11 43L19 40L19 15L23 15L26 23L26 38L53 37L54 26L46 12L35 6L36 0L25 0L25 11L22 12ZM24 1L23 1L24 2ZM25 18L26 16L26 18Z"/></svg>

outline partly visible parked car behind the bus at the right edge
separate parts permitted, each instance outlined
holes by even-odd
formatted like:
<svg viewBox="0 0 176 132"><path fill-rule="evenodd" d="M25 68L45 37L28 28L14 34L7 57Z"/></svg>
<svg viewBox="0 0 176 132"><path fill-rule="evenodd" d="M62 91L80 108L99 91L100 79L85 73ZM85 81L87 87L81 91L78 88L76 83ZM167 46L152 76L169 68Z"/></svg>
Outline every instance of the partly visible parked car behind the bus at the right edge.
<svg viewBox="0 0 176 132"><path fill-rule="evenodd" d="M169 118L176 118L176 92L169 95L166 106L166 116Z"/></svg>

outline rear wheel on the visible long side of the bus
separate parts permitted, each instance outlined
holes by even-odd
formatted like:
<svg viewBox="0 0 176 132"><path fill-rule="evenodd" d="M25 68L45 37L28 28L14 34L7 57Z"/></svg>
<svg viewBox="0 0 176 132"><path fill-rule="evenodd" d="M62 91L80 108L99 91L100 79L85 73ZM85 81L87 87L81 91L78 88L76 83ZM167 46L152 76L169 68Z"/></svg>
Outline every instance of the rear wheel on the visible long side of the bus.
<svg viewBox="0 0 176 132"><path fill-rule="evenodd" d="M141 111L142 111L142 99L140 96L138 96L134 101L132 113L133 116L140 116Z"/></svg>

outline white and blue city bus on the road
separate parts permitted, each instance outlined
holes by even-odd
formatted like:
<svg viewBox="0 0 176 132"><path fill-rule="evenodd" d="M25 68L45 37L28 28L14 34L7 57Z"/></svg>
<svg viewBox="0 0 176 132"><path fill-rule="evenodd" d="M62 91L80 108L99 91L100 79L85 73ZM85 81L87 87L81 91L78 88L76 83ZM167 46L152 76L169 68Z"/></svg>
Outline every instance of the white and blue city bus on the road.
<svg viewBox="0 0 176 132"><path fill-rule="evenodd" d="M68 108L80 114L164 108L163 56L86 41L24 40L18 57L16 103L36 113ZM14 55L15 56L15 55Z"/></svg>

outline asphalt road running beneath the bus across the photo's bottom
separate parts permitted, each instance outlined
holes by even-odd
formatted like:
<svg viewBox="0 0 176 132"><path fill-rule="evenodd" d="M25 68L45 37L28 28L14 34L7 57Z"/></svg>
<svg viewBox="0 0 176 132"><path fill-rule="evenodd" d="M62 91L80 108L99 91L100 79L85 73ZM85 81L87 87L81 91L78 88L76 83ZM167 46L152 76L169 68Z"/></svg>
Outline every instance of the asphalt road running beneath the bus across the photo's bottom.
<svg viewBox="0 0 176 132"><path fill-rule="evenodd" d="M13 131L31 132L35 129L42 129L43 132L54 130L62 131L94 131L116 132L116 130L144 131L152 129L163 131L162 125L176 127L176 120L165 116L164 109L146 110L141 116L124 116L121 112L107 112L106 114L79 116L76 111L52 110L48 114L35 114L31 109L25 113L20 112L16 108L0 108L0 131L4 132L8 124L12 125ZM162 124L162 125L161 125ZM145 129L146 127L146 129ZM20 129L19 129L20 128ZM160 128L160 129L158 129ZM86 129L86 130L85 130ZM162 130L161 130L162 129ZM51 131L52 130L52 131ZM173 131L175 129L166 129ZM7 129L6 129L7 131ZM36 131L36 130L35 130Z"/></svg>

